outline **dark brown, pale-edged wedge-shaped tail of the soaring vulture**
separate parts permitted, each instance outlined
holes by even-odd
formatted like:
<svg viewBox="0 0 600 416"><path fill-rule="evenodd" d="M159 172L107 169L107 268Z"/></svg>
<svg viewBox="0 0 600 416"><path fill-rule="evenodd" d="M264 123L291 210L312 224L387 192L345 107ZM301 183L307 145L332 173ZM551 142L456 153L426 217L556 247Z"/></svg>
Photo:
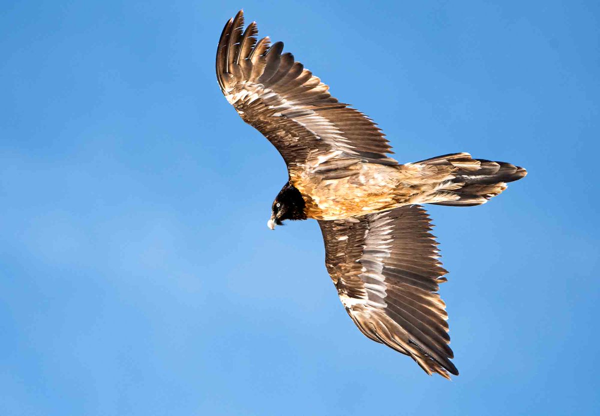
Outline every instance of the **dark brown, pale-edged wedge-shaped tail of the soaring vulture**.
<svg viewBox="0 0 600 416"><path fill-rule="evenodd" d="M467 207L486 203L506 189L507 182L519 180L527 171L505 162L473 159L469 153L452 153L426 159L417 164L450 171L450 176L439 186L440 195L430 203ZM440 196L443 195L443 198ZM441 200L441 201L440 201Z"/></svg>

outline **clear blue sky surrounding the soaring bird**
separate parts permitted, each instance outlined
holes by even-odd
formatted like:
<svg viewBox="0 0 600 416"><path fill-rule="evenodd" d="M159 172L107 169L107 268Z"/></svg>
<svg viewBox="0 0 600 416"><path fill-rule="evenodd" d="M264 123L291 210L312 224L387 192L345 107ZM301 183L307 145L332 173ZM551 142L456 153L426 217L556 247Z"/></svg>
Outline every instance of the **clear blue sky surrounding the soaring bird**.
<svg viewBox="0 0 600 416"><path fill-rule="evenodd" d="M266 227L285 165L214 74L242 7L399 161L529 170L429 207L452 382L356 329L315 221ZM0 414L598 412L599 27L596 1L4 2Z"/></svg>

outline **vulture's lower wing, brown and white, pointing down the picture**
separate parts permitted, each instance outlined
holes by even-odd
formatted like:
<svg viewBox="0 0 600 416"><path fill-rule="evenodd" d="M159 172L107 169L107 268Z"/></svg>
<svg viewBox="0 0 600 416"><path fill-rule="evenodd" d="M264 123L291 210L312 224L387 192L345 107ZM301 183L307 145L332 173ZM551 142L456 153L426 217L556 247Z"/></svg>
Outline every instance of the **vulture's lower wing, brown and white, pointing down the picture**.
<svg viewBox="0 0 600 416"><path fill-rule="evenodd" d="M458 375L449 360L446 305L437 293L446 270L427 212L410 205L319 225L327 271L362 333L409 355L429 374Z"/></svg>

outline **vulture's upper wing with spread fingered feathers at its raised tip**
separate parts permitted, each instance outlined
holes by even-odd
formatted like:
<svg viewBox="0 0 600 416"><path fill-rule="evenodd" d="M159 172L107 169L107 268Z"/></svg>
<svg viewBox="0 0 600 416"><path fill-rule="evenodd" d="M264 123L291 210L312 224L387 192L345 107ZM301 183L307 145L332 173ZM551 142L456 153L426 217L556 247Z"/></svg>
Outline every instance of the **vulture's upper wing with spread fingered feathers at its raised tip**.
<svg viewBox="0 0 600 416"><path fill-rule="evenodd" d="M217 79L227 101L277 147L288 170L332 158L397 164L386 155L391 146L373 121L331 97L329 87L292 54L281 53L283 43L256 41L255 22L243 27L242 11L225 25Z"/></svg>

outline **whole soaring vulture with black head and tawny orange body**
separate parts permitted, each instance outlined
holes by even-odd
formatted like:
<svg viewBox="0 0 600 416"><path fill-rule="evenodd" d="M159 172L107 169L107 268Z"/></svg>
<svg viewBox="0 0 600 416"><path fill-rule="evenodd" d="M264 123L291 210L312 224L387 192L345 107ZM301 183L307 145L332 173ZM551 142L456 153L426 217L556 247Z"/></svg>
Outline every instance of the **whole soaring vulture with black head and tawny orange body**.
<svg viewBox="0 0 600 416"><path fill-rule="evenodd" d="M269 228L316 219L327 271L359 330L430 375L458 375L437 293L446 270L421 205L483 204L527 171L469 153L399 164L371 119L332 97L283 43L257 34L239 11L221 34L216 69L227 101L286 162Z"/></svg>

